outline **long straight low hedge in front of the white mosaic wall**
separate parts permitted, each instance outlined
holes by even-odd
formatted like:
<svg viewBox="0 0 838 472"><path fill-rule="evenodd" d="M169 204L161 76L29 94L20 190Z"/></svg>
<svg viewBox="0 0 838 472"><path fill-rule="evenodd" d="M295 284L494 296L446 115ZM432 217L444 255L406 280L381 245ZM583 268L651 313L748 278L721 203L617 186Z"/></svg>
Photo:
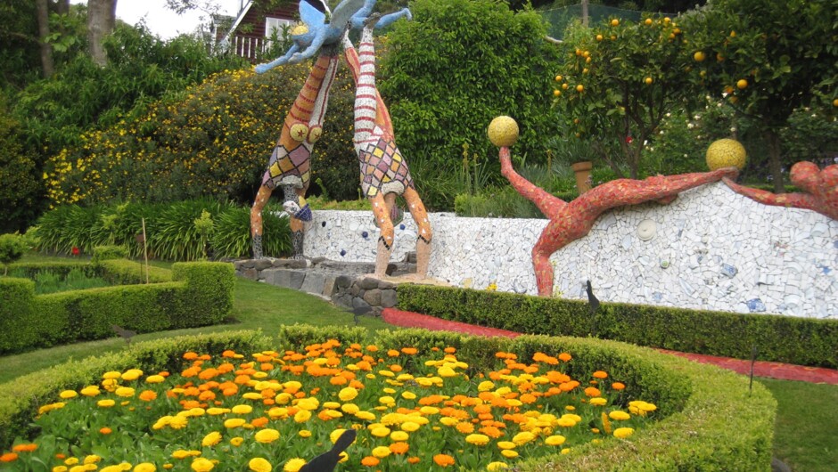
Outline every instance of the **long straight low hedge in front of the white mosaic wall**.
<svg viewBox="0 0 838 472"><path fill-rule="evenodd" d="M398 308L530 334L613 339L694 354L838 368L838 321L587 302L505 292L401 285Z"/></svg>

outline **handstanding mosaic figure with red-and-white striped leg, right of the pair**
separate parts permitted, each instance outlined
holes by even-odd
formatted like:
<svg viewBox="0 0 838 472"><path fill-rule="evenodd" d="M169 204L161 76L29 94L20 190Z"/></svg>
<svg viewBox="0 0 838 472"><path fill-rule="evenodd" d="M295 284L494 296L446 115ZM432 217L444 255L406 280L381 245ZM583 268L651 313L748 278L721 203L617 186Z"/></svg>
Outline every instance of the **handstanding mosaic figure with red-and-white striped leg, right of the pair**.
<svg viewBox="0 0 838 472"><path fill-rule="evenodd" d="M371 9L374 4L374 1L367 0L365 6ZM431 256L431 224L422 199L415 190L407 160L398 151L390 113L375 87L373 23L375 27L380 27L400 16L410 18L409 12L403 10L381 20L377 20L377 15L364 20L358 50L345 38L344 57L356 85L354 143L361 171L361 191L370 200L375 224L381 230L374 276L382 278L386 274L394 241L392 215L396 196L402 195L418 230L415 277L423 279L427 275Z"/></svg>

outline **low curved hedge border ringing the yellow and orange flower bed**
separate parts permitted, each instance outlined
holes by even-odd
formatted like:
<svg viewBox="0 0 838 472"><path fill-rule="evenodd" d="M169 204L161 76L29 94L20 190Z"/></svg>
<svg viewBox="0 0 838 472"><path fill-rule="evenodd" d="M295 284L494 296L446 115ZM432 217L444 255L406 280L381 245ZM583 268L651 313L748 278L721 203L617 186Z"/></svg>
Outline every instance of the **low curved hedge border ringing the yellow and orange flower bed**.
<svg viewBox="0 0 838 472"><path fill-rule="evenodd" d="M279 344L297 348L327 338L343 343L365 342L364 330L283 327ZM497 351L531 356L535 352L569 352L571 376L607 370L626 383L627 394L658 406L659 421L627 439L573 448L526 460L519 470L770 470L776 401L759 382L718 367L689 362L651 349L614 341L582 338L464 337L427 330L382 330L372 342L380 348L454 346L458 356L474 368L493 360ZM187 350L220 354L224 349L255 352L270 348L269 338L253 331L181 337L139 343L118 354L80 362L67 362L0 385L0 448L15 436L32 435L29 419L41 404L49 403L66 388L78 389L98 382L106 370L178 370Z"/></svg>

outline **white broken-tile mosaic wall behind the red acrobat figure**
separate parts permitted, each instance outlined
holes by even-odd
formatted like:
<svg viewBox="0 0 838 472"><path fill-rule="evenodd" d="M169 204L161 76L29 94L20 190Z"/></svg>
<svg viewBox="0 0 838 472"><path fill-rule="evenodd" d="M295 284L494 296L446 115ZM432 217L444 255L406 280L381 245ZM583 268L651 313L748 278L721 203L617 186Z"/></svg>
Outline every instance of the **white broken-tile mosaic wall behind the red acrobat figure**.
<svg viewBox="0 0 838 472"><path fill-rule="evenodd" d="M538 293L530 250L546 219L431 214L431 277L472 289ZM305 253L374 262L369 211L315 211ZM391 260L415 250L409 215ZM724 183L685 191L669 205L606 212L587 237L552 257L555 294L602 301L838 319L838 221L761 205Z"/></svg>

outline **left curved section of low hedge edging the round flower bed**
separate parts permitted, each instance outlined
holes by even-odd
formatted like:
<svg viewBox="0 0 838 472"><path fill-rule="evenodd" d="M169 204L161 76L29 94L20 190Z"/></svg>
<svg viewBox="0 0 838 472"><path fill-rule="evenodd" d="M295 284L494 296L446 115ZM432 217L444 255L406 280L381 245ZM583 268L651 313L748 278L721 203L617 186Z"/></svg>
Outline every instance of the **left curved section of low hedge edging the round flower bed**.
<svg viewBox="0 0 838 472"><path fill-rule="evenodd" d="M255 331L228 331L212 335L159 339L127 346L119 353L82 361L70 361L50 369L15 378L0 385L0 450L8 449L16 436L32 436L31 419L37 410L64 389L98 384L108 370L140 369L147 372L184 368L182 354L194 351L219 355L225 349L259 352L270 339Z"/></svg>

